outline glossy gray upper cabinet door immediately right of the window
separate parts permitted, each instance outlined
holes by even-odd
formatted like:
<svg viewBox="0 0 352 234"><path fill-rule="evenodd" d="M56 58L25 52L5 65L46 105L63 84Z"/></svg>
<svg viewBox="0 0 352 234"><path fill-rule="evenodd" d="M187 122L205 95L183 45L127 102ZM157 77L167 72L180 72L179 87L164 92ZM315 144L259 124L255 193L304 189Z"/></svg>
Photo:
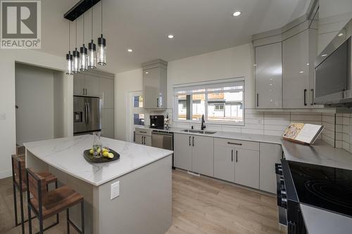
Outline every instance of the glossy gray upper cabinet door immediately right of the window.
<svg viewBox="0 0 352 234"><path fill-rule="evenodd" d="M256 46L256 108L282 108L282 43Z"/></svg>

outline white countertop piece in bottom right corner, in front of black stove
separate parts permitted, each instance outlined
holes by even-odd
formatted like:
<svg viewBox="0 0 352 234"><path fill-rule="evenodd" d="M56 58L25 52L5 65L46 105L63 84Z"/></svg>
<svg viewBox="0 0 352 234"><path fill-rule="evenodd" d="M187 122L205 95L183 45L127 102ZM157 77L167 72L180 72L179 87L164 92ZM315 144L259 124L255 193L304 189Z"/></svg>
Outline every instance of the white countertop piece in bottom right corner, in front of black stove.
<svg viewBox="0 0 352 234"><path fill-rule="evenodd" d="M301 212L309 234L352 233L352 218L301 204Z"/></svg>

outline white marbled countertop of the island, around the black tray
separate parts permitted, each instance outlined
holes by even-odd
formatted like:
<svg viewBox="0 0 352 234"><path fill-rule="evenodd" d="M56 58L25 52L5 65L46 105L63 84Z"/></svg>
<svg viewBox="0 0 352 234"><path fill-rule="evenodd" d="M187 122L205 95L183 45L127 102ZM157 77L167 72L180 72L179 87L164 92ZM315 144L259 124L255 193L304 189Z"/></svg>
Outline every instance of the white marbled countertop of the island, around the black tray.
<svg viewBox="0 0 352 234"><path fill-rule="evenodd" d="M111 138L102 137L101 143L118 152L120 159L99 164L87 162L83 157L83 151L92 148L92 135L35 141L24 145L40 160L94 186L100 186L172 154L170 150Z"/></svg>

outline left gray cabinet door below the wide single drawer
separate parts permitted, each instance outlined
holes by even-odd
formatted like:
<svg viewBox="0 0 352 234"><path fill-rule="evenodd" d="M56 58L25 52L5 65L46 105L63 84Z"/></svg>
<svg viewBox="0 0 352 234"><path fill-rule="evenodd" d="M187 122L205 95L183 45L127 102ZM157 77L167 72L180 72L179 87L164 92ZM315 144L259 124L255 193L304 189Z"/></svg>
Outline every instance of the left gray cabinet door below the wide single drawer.
<svg viewBox="0 0 352 234"><path fill-rule="evenodd" d="M234 182L234 148L214 142L214 177Z"/></svg>

